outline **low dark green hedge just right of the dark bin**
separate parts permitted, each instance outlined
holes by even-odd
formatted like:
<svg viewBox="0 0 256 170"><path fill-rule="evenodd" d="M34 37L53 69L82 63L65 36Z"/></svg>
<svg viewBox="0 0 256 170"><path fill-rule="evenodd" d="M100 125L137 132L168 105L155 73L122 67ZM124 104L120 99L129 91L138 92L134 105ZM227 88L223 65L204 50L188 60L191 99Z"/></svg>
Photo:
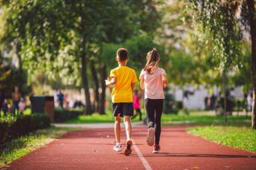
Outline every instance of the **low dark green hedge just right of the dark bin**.
<svg viewBox="0 0 256 170"><path fill-rule="evenodd" d="M77 118L81 114L83 114L83 112L78 110L65 110L61 108L55 108L54 122L65 122L66 120Z"/></svg>

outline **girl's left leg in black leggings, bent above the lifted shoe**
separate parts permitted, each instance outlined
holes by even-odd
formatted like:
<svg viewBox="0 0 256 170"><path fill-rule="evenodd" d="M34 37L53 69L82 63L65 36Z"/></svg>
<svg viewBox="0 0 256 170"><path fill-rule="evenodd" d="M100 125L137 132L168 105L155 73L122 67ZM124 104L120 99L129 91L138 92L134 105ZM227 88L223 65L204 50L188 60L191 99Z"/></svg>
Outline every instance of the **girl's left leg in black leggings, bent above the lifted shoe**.
<svg viewBox="0 0 256 170"><path fill-rule="evenodd" d="M155 107L154 101L150 100L149 98L145 99L145 108L147 112L147 118L149 120L148 127L154 128L155 127Z"/></svg>

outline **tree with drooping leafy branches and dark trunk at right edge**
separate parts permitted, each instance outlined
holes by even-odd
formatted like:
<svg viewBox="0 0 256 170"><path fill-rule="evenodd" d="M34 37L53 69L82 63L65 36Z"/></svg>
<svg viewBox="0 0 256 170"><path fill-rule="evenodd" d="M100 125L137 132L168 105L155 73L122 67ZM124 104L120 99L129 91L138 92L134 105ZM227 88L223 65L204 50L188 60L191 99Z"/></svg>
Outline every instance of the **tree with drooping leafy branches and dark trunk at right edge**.
<svg viewBox="0 0 256 170"><path fill-rule="evenodd" d="M188 0L189 7L192 7L196 14L196 21L203 25L205 33L210 33L214 42L213 54L219 63L223 73L223 82L225 81L227 70L231 66L243 65L239 58L241 37L246 30L243 27L250 28L252 63L256 63L255 52L255 1L197 1ZM241 11L241 13L239 13ZM252 64L253 89L255 94L255 65ZM255 100L253 100L255 106ZM255 108L252 112L252 126L255 126Z"/></svg>

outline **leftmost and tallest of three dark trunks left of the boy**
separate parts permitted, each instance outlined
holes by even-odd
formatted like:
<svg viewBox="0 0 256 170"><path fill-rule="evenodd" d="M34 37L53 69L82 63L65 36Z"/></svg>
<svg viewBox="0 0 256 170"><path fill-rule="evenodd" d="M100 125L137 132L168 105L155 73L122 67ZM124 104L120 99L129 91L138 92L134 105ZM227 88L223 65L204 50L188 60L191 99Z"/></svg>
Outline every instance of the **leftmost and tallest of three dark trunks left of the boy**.
<svg viewBox="0 0 256 170"><path fill-rule="evenodd" d="M83 81L83 88L85 89L85 102L86 102L86 114L91 114L91 97L89 93L89 86L88 86L88 79L87 79L87 60L86 60L86 52L85 52L85 39L83 38L82 42L82 53L81 53L81 62L82 62L82 68L81 68L81 75L82 75L82 81Z"/></svg>

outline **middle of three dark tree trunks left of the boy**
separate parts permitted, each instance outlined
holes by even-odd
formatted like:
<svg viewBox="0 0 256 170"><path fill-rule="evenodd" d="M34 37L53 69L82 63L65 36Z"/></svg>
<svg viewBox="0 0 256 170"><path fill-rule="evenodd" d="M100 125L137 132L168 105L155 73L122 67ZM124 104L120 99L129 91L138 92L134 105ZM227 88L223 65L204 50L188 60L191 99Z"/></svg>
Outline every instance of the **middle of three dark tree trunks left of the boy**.
<svg viewBox="0 0 256 170"><path fill-rule="evenodd" d="M95 62L91 61L91 74L93 76L93 82L94 82L94 106L95 106L95 112L99 113L99 79L97 76L97 71L95 68Z"/></svg>

